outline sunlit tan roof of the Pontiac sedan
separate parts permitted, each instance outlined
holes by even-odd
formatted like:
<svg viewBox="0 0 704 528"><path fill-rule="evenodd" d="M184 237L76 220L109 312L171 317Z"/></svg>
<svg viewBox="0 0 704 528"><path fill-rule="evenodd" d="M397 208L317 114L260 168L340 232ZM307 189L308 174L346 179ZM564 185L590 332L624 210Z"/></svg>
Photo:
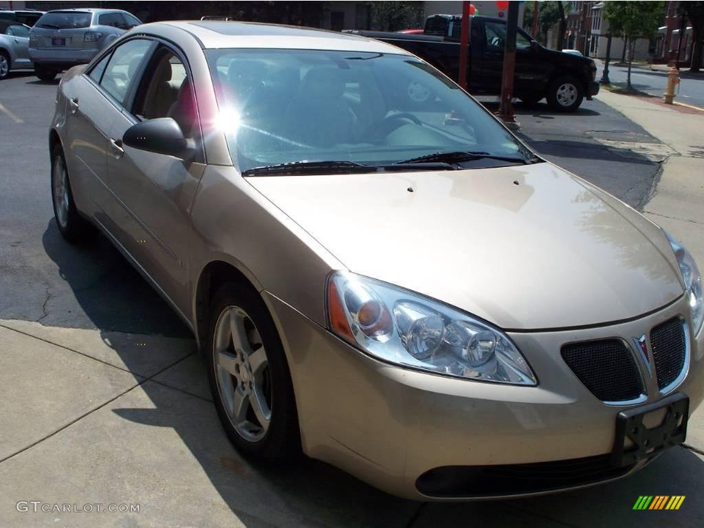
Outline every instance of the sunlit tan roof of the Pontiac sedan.
<svg viewBox="0 0 704 528"><path fill-rule="evenodd" d="M325 49L410 55L408 51L367 37L281 24L184 20L142 25L139 32L158 32L158 27L163 26L179 27L189 32L203 49Z"/></svg>

